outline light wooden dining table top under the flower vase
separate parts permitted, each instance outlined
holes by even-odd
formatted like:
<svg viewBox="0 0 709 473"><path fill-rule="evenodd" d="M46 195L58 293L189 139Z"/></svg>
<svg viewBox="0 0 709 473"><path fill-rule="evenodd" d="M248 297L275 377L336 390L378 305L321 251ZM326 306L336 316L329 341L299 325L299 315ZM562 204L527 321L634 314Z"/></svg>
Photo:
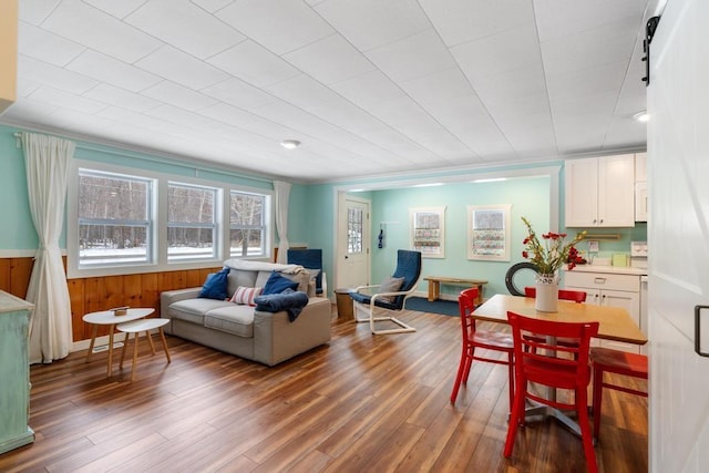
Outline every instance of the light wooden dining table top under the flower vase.
<svg viewBox="0 0 709 473"><path fill-rule="evenodd" d="M472 316L479 320L508 323L507 311L542 320L559 322L599 322L598 338L645 345L647 337L623 307L594 306L566 300L558 301L558 312L541 312L534 298L497 294L477 307Z"/></svg>

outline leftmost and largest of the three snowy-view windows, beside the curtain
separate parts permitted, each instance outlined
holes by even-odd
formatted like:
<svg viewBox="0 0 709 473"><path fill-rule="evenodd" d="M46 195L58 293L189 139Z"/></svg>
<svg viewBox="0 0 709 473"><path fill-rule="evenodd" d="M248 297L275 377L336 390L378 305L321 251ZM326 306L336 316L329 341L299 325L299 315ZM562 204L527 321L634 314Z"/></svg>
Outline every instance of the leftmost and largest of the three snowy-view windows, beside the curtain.
<svg viewBox="0 0 709 473"><path fill-rule="evenodd" d="M154 182L79 169L79 267L153 263Z"/></svg>

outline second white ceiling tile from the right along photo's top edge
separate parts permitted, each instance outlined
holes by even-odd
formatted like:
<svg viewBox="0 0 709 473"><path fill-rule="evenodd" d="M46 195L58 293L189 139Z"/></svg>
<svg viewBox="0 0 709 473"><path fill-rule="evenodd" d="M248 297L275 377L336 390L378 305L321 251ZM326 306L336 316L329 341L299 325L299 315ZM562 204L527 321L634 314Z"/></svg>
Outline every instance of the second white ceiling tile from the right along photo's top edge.
<svg viewBox="0 0 709 473"><path fill-rule="evenodd" d="M420 3L449 47L534 21L532 0L420 0Z"/></svg>

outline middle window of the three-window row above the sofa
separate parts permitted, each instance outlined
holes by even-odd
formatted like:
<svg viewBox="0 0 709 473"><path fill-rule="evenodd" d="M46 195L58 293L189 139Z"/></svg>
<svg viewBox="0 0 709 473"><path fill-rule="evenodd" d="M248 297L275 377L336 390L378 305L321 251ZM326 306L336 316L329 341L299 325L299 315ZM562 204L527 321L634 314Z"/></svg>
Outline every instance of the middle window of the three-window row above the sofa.
<svg viewBox="0 0 709 473"><path fill-rule="evenodd" d="M217 189L167 184L167 261L217 257Z"/></svg>

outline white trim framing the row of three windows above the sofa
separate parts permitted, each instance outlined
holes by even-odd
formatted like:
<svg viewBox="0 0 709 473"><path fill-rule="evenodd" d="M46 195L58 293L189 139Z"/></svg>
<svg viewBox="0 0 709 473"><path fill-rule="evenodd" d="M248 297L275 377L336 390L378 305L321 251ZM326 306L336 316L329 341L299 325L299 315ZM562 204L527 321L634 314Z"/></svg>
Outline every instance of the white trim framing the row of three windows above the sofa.
<svg viewBox="0 0 709 473"><path fill-rule="evenodd" d="M156 179L157 192L153 206L156 212L155 219L155 259L152 264L122 264L116 266L102 266L97 268L79 268L79 208L76 200L79 198L79 168L88 168L100 172L114 174L125 174ZM219 200L216 209L216 224L218 226L217 237L218 247L215 258L203 258L198 260L181 260L167 261L167 183L184 183L196 186L216 187L220 189L217 193ZM94 161L73 160L71 175L69 177L69 191L66 195L66 220L64 228L66 229L66 277L68 279L120 276L147 273L163 273L185 269L212 268L220 266L225 259L229 259L229 196L232 191L245 192L251 194L261 194L267 198L267 228L266 228L266 255L259 257L243 257L240 259L270 260L274 247L274 225L275 217L273 215L273 189L264 189L249 186L236 186L222 181L207 181L179 174L164 174L134 167L122 167L113 164L106 164Z"/></svg>

